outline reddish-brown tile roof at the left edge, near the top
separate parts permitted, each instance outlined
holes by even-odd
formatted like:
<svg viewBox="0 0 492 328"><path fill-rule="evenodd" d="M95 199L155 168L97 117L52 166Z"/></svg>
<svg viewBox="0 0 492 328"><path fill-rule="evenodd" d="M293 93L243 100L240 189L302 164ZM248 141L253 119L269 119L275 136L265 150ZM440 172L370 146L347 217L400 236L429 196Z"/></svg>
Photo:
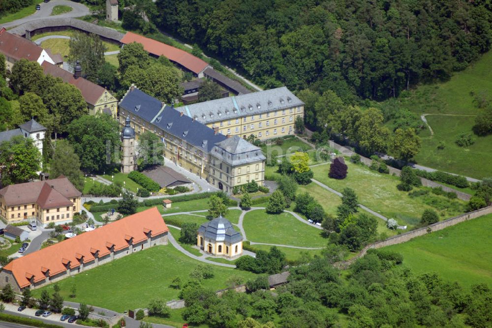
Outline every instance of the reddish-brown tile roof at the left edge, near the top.
<svg viewBox="0 0 492 328"><path fill-rule="evenodd" d="M0 29L0 53L12 57L15 60L26 58L37 61L43 48L34 42L17 34L7 32L3 27Z"/></svg>

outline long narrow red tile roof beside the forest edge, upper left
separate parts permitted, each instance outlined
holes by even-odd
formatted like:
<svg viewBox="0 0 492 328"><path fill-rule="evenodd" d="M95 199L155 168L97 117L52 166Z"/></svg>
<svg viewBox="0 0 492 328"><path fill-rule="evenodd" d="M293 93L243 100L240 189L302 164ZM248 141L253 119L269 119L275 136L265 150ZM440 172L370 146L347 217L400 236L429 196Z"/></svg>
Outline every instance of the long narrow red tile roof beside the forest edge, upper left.
<svg viewBox="0 0 492 328"><path fill-rule="evenodd" d="M195 74L202 72L209 65L206 61L195 57L184 50L171 47L165 43L155 41L132 32L127 32L123 36L121 42L124 44L129 44L132 42L141 43L148 53L156 56L165 56L169 60L180 64Z"/></svg>

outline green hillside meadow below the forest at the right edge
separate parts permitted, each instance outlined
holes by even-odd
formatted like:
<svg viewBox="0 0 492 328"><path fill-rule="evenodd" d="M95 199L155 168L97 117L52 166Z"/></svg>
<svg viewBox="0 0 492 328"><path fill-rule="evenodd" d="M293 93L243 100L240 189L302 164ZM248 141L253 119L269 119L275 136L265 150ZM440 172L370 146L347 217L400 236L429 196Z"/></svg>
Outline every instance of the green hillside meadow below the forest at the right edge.
<svg viewBox="0 0 492 328"><path fill-rule="evenodd" d="M483 109L477 108L476 95L484 93L491 99L491 90L492 52L488 52L447 82L422 85L402 94L397 104L419 116L424 113L478 115ZM431 137L429 129L421 132L422 150L415 156L418 164L478 179L492 176L492 135L475 136L475 144L470 147L455 144L461 132L471 133L474 117L428 115L427 119L434 136ZM437 149L439 141L445 144L443 150Z"/></svg>

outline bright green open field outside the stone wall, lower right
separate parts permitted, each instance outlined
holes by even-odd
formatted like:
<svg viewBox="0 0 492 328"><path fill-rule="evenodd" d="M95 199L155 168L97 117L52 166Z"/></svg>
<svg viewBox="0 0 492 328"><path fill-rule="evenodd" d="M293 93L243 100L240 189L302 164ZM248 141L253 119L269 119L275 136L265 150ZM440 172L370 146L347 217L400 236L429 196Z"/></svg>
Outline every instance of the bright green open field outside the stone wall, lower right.
<svg viewBox="0 0 492 328"><path fill-rule="evenodd" d="M416 273L437 272L444 279L492 287L492 215L462 222L386 249L403 254Z"/></svg>

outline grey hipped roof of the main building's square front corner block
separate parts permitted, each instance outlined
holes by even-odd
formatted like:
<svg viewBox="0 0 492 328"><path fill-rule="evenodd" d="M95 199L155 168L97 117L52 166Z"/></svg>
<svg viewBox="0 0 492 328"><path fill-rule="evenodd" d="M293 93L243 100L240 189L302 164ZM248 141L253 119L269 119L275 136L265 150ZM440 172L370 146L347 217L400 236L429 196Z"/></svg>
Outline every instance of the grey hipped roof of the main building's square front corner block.
<svg viewBox="0 0 492 328"><path fill-rule="evenodd" d="M239 136L229 137L216 143L212 151L215 157L221 158L230 165L240 165L266 159L259 147Z"/></svg>

